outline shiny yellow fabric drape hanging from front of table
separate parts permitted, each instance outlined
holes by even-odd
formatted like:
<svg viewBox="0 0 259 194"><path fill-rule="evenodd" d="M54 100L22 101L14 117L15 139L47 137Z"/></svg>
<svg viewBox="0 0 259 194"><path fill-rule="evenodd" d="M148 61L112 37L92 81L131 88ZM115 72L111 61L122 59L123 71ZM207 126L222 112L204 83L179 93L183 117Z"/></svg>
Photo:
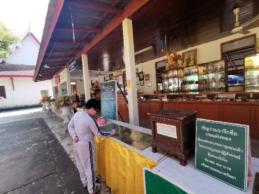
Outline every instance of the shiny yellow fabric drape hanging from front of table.
<svg viewBox="0 0 259 194"><path fill-rule="evenodd" d="M144 194L143 166L158 163L110 138L94 138L96 171L115 194Z"/></svg>

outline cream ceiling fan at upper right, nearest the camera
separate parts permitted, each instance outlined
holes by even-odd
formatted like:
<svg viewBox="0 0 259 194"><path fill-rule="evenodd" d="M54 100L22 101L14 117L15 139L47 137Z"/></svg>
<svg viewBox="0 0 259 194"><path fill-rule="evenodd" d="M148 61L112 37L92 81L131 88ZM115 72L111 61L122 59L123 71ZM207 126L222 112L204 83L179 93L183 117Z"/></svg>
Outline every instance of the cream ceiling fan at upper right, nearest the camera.
<svg viewBox="0 0 259 194"><path fill-rule="evenodd" d="M249 24L251 24L252 22L255 22L256 20L259 19L259 15L255 16L254 18L248 20L247 22L245 22L244 24L240 25L240 23L238 22L238 13L239 13L240 7L237 7L235 9L233 9L233 13L236 15L236 22L235 22L235 28L233 28L231 30L231 33L236 34L243 34L246 35L248 33L250 33L250 31L245 30L244 27L248 26Z"/></svg>

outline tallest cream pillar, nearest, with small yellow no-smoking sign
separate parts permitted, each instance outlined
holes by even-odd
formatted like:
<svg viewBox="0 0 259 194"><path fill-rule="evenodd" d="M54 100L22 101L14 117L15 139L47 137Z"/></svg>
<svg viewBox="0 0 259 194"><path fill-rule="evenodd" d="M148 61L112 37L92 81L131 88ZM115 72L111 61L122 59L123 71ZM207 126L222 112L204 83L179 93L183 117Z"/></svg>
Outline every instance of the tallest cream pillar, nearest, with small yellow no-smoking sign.
<svg viewBox="0 0 259 194"><path fill-rule="evenodd" d="M128 88L129 122L132 125L138 126L138 99L132 21L128 18L124 19L122 22L122 30L126 75L127 79L131 80L131 88Z"/></svg>

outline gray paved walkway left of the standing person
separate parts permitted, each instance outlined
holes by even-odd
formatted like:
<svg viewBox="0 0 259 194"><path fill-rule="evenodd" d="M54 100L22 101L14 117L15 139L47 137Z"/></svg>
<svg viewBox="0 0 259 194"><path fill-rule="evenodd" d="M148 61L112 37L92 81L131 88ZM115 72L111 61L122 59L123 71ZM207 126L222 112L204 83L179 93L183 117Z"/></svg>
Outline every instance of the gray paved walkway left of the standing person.
<svg viewBox="0 0 259 194"><path fill-rule="evenodd" d="M0 194L88 193L62 122L41 108L0 113ZM111 193L101 185L102 194Z"/></svg>

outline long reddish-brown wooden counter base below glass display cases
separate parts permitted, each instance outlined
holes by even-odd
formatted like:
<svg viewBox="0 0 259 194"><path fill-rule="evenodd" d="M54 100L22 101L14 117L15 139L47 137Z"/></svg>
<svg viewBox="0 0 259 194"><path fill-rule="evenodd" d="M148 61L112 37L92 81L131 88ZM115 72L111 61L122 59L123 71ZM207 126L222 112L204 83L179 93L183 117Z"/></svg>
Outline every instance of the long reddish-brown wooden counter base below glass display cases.
<svg viewBox="0 0 259 194"><path fill-rule="evenodd" d="M202 101L152 101L138 100L138 116L149 119L147 113L159 109L182 109L197 111L197 118L249 125L250 138L259 139L258 102L202 102ZM118 111L128 114L124 97L118 96Z"/></svg>

